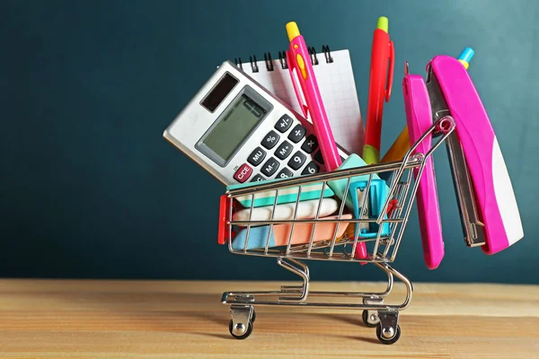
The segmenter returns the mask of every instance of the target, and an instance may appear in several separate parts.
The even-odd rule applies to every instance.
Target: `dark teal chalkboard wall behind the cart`
[[[349,49],[365,116],[381,15],[396,53],[382,152],[405,123],[404,61],[424,74],[431,57],[474,48],[469,72],[525,232],[495,256],[466,248],[442,149],[446,257],[436,270],[425,266],[414,207],[394,266],[412,281],[539,284],[535,0],[0,2],[0,276],[291,279],[272,258],[217,245],[225,188],[163,140],[163,129],[225,59],[286,48],[289,21],[318,51]],[[374,266],[311,268],[314,280],[383,278]]]

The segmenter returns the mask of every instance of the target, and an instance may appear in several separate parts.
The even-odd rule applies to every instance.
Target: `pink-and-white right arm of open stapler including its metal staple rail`
[[[455,131],[446,138],[464,241],[487,254],[524,237],[508,170],[479,94],[456,58],[434,57],[427,65],[432,121],[449,116]]]

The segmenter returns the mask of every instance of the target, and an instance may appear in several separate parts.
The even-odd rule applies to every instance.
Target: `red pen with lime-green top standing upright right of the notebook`
[[[393,86],[395,50],[387,32],[387,18],[378,18],[371,53],[370,79],[368,84],[368,107],[363,160],[367,164],[380,162],[382,114],[384,99],[389,101]],[[388,71],[389,66],[389,71]]]

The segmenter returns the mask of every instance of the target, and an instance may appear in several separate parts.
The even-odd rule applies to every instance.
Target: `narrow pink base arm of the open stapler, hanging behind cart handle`
[[[406,64],[402,79],[402,93],[410,145],[413,145],[432,127],[432,112],[425,81],[418,74],[408,74],[408,64]],[[418,144],[414,153],[428,153],[431,147],[431,137],[430,134],[426,136]],[[418,179],[418,171],[417,168],[414,170],[414,178],[420,181],[416,198],[423,257],[429,269],[436,269],[444,258],[445,250],[432,156],[425,161],[420,179]]]

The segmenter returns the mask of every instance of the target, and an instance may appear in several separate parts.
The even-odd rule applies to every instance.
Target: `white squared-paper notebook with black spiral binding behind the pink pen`
[[[349,50],[331,51],[324,45],[321,53],[316,53],[312,47],[309,53],[335,141],[349,153],[361,155],[365,129]],[[264,53],[263,60],[249,57],[249,62],[243,63],[241,58],[234,58],[234,61],[256,82],[298,113],[303,113],[296,99],[285,51],[279,51],[277,58]]]

